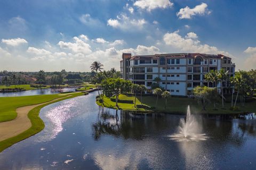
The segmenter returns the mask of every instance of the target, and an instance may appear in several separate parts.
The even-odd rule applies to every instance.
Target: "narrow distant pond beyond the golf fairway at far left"
[[[75,91],[74,88],[62,88],[63,92]],[[15,97],[15,96],[35,96],[35,95],[52,95],[58,94],[59,92],[49,89],[35,89],[35,90],[26,90],[18,92],[0,92],[0,97]]]

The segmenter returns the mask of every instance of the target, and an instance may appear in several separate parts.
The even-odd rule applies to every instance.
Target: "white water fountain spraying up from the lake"
[[[200,125],[196,120],[194,115],[191,115],[190,107],[188,105],[187,108],[187,116],[186,121],[184,118],[180,120],[180,125],[178,127],[178,133],[174,133],[169,137],[172,140],[177,141],[198,141],[198,140],[206,140],[206,134],[200,133]]]

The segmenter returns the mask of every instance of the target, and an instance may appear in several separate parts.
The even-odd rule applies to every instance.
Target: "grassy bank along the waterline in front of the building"
[[[120,95],[119,99],[122,100],[133,100],[134,97]],[[156,97],[155,96],[142,96],[142,101],[144,105],[149,107],[155,107]],[[109,107],[117,109],[116,103],[111,101],[110,98],[105,97],[103,104],[97,101],[99,106]],[[140,105],[140,97],[137,97],[137,105]],[[199,114],[239,114],[239,113],[251,113],[256,112],[256,100],[251,101],[250,103],[246,103],[244,107],[237,103],[239,107],[239,111],[230,111],[230,103],[225,103],[224,109],[222,109],[222,104],[217,104],[217,111],[214,110],[213,104],[209,104],[206,106],[206,111],[202,111],[202,105],[198,104],[197,100],[192,98],[178,98],[171,97],[167,99],[166,109],[164,109],[165,100],[163,98],[158,99],[158,104],[155,109],[143,109],[143,108],[135,108],[134,104],[126,104],[126,103],[118,103],[119,109],[129,110],[129,111],[154,111],[154,112],[162,112],[162,113],[173,113],[173,114],[186,114],[187,106],[190,105],[191,112],[199,113]]]

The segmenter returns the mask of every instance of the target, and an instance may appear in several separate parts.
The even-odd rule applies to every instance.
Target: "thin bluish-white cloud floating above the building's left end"
[[[122,30],[138,30],[142,29],[146,23],[145,19],[131,19],[129,16],[121,14],[116,19],[109,19],[107,25]]]

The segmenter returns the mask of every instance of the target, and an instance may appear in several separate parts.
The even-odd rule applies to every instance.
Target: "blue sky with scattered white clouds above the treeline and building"
[[[122,53],[223,54],[256,69],[256,1],[1,0],[0,71],[119,70]]]

